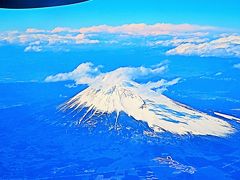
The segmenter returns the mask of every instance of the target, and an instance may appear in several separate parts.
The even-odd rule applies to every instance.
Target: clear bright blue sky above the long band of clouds
[[[0,30],[157,22],[239,29],[239,9],[238,0],[90,0],[82,4],[45,9],[1,9]]]

